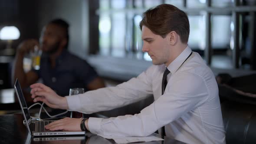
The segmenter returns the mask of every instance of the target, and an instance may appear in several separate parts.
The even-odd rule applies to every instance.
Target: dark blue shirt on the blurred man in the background
[[[52,68],[49,56],[43,53],[40,69],[33,70],[58,95],[69,95],[69,88],[85,88],[98,77],[95,70],[85,60],[63,49],[56,59],[56,67]]]

